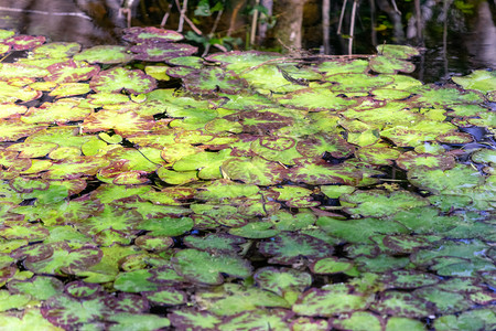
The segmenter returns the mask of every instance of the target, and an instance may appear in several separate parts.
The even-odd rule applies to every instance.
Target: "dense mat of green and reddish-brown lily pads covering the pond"
[[[0,325],[496,328],[494,72],[181,39],[0,30]]]

